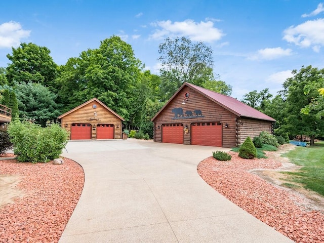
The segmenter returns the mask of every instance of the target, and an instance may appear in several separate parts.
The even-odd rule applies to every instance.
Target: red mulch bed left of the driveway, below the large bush
[[[75,161],[63,165],[0,160],[0,174],[22,175],[24,191],[14,204],[0,207],[0,242],[58,242],[84,186]]]

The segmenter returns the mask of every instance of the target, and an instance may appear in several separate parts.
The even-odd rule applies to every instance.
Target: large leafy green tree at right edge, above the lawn
[[[324,133],[324,120],[318,115],[318,109],[309,109],[318,98],[318,89],[324,86],[324,69],[307,66],[293,70],[293,77],[284,83],[284,95],[287,102],[287,125],[290,135],[310,136],[310,145],[314,145],[316,136]],[[303,109],[304,108],[304,109]],[[306,112],[307,111],[307,112]]]

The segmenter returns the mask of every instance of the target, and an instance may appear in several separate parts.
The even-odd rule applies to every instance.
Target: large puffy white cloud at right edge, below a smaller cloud
[[[320,46],[324,46],[324,19],[309,20],[296,27],[291,26],[284,30],[284,34],[283,39],[287,42],[319,51]]]

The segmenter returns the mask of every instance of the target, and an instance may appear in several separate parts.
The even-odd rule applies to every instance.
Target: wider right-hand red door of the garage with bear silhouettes
[[[205,146],[222,146],[222,124],[193,123],[191,124],[191,144]]]

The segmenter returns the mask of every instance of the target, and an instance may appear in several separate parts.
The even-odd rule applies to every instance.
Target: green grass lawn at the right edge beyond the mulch
[[[296,147],[282,156],[288,157],[291,163],[303,166],[297,172],[282,172],[291,175],[292,182],[304,188],[316,191],[324,196],[324,142],[315,143],[309,148]]]

